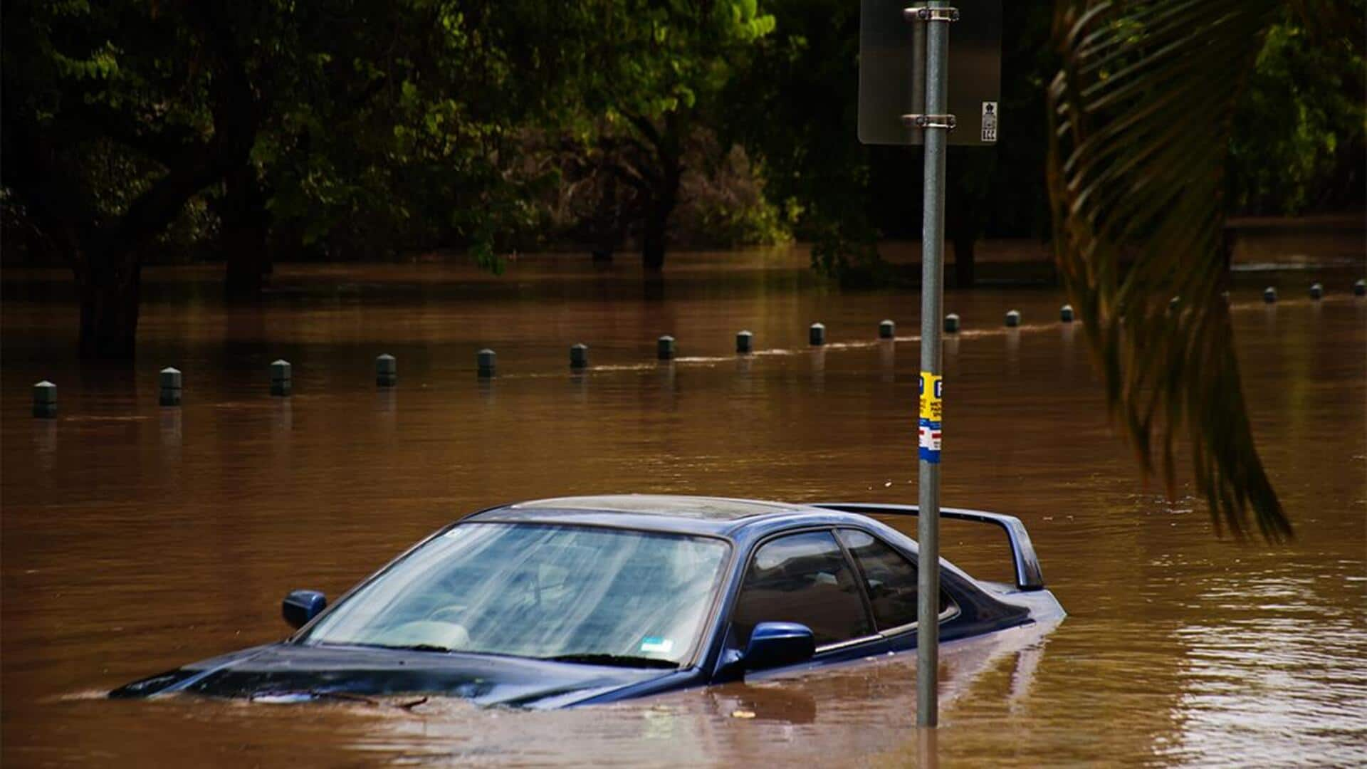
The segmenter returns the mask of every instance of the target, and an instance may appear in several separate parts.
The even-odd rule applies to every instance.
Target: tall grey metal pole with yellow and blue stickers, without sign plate
[[[939,456],[940,456],[940,301],[945,293],[945,145],[949,12],[931,0],[925,29],[925,181],[921,218],[921,397],[919,426],[920,546],[916,612],[916,724],[939,724]]]

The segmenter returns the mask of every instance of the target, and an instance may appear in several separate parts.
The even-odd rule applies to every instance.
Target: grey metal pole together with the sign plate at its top
[[[990,146],[998,138],[1002,5],[965,3],[954,25],[966,56],[949,59],[949,27],[960,11],[945,0],[861,0],[858,138],[925,148],[921,219],[921,564],[939,564],[940,304],[945,261],[946,145]],[[910,29],[908,29],[910,25]],[[950,71],[953,67],[953,73]],[[950,92],[953,86],[953,92]],[[950,134],[951,129],[958,129]],[[950,319],[945,317],[946,330]],[[953,330],[958,317],[953,317]],[[916,722],[938,722],[939,569],[919,569]]]

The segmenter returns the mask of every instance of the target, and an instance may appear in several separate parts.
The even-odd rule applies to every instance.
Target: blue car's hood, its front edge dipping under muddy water
[[[677,676],[677,670],[610,668],[487,654],[278,643],[205,660],[134,681],[112,698],[200,694],[294,702],[355,695],[429,694],[478,705],[559,707],[608,691]]]

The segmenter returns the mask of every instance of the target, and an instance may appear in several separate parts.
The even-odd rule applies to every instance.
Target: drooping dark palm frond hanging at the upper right
[[[1055,257],[1111,415],[1169,494],[1185,431],[1217,532],[1243,536],[1252,512],[1267,540],[1292,528],[1240,386],[1223,166],[1234,101],[1278,7],[1061,0],[1062,68],[1048,92]]]

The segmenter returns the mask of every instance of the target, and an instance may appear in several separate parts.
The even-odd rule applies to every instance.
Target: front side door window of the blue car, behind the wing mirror
[[[872,627],[849,561],[828,531],[760,546],[737,597],[731,621],[744,646],[759,623],[801,623],[817,646],[869,635]]]

